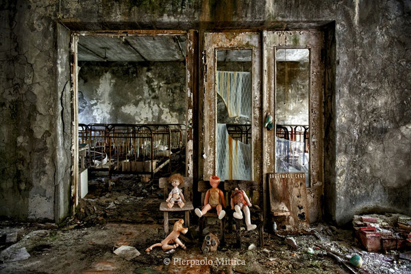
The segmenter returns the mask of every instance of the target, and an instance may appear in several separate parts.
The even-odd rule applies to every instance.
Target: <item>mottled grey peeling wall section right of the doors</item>
[[[411,1],[339,8],[336,221],[411,214]]]

